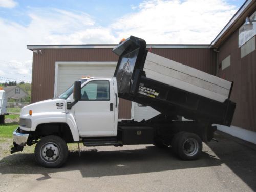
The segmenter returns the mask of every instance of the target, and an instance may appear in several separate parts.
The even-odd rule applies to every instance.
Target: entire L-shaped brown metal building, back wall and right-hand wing
[[[256,52],[255,34],[240,45],[239,35],[243,33],[245,18],[253,17],[256,2],[246,1],[230,22],[210,45],[148,45],[153,53],[194,67],[229,81],[234,81],[231,100],[237,103],[232,127],[220,127],[222,131],[247,139],[245,135],[256,138]],[[256,25],[256,22],[255,24]],[[256,31],[256,26],[253,30]],[[143,38],[143,37],[142,37]],[[146,40],[146,39],[145,39]],[[73,66],[85,63],[95,64],[100,69],[103,63],[112,67],[118,57],[112,52],[115,45],[28,45],[33,51],[31,102],[50,99],[57,94],[57,71],[65,63]],[[72,69],[71,65],[71,69]],[[88,75],[88,74],[84,74]],[[89,74],[90,75],[90,74]],[[70,82],[72,83],[72,82]],[[131,119],[131,102],[120,101],[119,118]],[[130,111],[130,112],[129,112]],[[243,129],[241,129],[243,128]],[[236,130],[238,129],[238,130]],[[241,130],[240,130],[241,129]],[[234,134],[241,132],[242,134]],[[246,130],[253,131],[246,132]],[[241,136],[242,135],[242,136]]]

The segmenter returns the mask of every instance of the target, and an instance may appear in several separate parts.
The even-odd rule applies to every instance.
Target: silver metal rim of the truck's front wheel
[[[45,162],[54,163],[60,156],[59,146],[55,143],[46,143],[41,147],[40,155]]]

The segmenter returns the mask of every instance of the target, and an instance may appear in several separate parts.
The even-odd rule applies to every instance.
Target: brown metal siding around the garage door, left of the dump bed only
[[[33,54],[31,102],[50,99],[54,95],[56,61],[117,61],[112,49],[44,49]]]

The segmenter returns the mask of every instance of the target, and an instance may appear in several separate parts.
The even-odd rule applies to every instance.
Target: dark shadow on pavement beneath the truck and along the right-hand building
[[[50,173],[79,170],[82,177],[99,178],[103,176],[118,176],[161,172],[166,170],[223,166],[226,164],[234,174],[239,176],[252,190],[256,190],[256,147],[240,139],[217,132],[219,143],[210,142],[212,151],[205,151],[197,161],[182,161],[170,149],[160,150],[154,146],[133,150],[122,150],[118,147],[113,151],[87,150],[70,152],[67,163],[58,169],[39,167],[34,160],[34,154],[17,153],[4,157],[0,161],[1,174],[42,174],[37,180],[46,180]],[[208,147],[206,147],[208,148]],[[221,169],[218,169],[221,170]]]

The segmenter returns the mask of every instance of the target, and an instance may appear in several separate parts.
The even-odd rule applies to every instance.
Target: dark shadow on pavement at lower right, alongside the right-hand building
[[[256,145],[221,131],[215,133],[215,138],[219,142],[209,142],[208,147],[252,191],[256,191]]]

